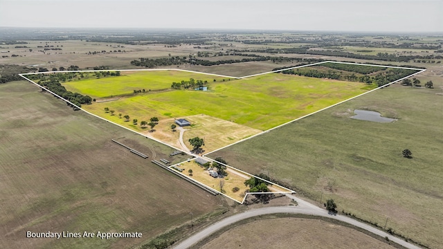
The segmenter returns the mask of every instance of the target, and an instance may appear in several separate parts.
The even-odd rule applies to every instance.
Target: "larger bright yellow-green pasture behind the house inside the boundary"
[[[118,118],[118,113],[138,121],[206,114],[263,131],[367,91],[363,83],[278,73],[212,82],[209,87],[210,91],[165,91],[83,108],[138,131],[141,127]],[[105,107],[116,116],[105,113]]]

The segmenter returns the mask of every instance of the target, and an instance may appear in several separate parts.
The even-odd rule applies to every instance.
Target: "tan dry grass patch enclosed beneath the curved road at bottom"
[[[209,248],[379,248],[392,249],[388,243],[363,232],[327,221],[302,218],[275,218],[252,221],[230,228],[201,246]]]

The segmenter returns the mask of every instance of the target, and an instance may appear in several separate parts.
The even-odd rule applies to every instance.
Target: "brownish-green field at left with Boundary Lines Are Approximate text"
[[[29,82],[0,84],[0,105],[0,248],[131,248],[187,223],[190,212],[225,210],[219,197],[150,163],[179,163],[168,146],[73,111]],[[123,230],[143,237],[26,239],[26,231]]]

